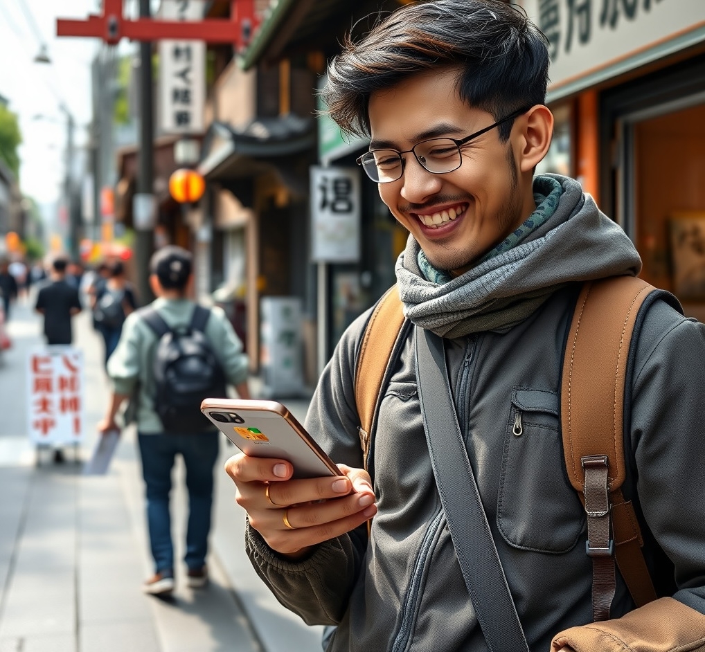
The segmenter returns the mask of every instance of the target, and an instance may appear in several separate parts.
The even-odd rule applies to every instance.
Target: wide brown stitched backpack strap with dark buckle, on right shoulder
[[[570,483],[587,512],[594,620],[609,617],[615,558],[637,606],[656,599],[634,508],[620,490],[626,476],[627,359],[639,307],[654,289],[632,276],[585,283],[563,359],[563,453]]]

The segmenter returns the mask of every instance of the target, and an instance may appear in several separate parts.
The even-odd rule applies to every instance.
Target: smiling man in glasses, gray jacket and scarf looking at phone
[[[306,622],[336,625],[329,651],[705,649],[705,518],[694,499],[705,328],[665,293],[644,304],[632,339],[624,449],[646,564],[666,570],[655,582],[666,602],[635,608],[617,573],[609,619],[592,625],[595,551],[560,433],[563,351],[583,283],[635,276],[641,262],[577,181],[534,177],[553,130],[547,72],[544,35],[498,0],[409,4],[329,66],[331,116],[370,137],[358,163],[410,233],[396,266],[410,326],[367,460],[355,368],[371,312],[336,347],[306,421],[341,475],[292,479],[287,460],[245,455],[227,465],[253,565]],[[439,347],[436,370],[424,341]],[[442,473],[429,421],[460,435]],[[436,477],[450,479],[450,495]],[[473,483],[498,564],[485,548],[458,548],[482,529],[469,512],[451,536],[448,508]],[[505,583],[508,601],[469,593],[468,576]],[[516,646],[493,638],[503,629],[518,630]]]

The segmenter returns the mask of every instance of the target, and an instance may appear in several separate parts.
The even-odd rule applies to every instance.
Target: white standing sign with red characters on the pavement
[[[36,444],[83,439],[83,354],[68,346],[37,347],[27,357],[27,429]]]

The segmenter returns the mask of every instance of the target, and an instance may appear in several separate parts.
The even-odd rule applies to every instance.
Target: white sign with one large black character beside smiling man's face
[[[360,171],[311,168],[312,259],[319,263],[360,259]]]

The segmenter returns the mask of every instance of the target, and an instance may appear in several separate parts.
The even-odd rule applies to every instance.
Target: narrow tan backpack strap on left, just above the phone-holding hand
[[[379,391],[403,323],[403,304],[397,286],[393,285],[372,311],[355,364],[355,403],[360,417],[360,444],[365,469]]]

